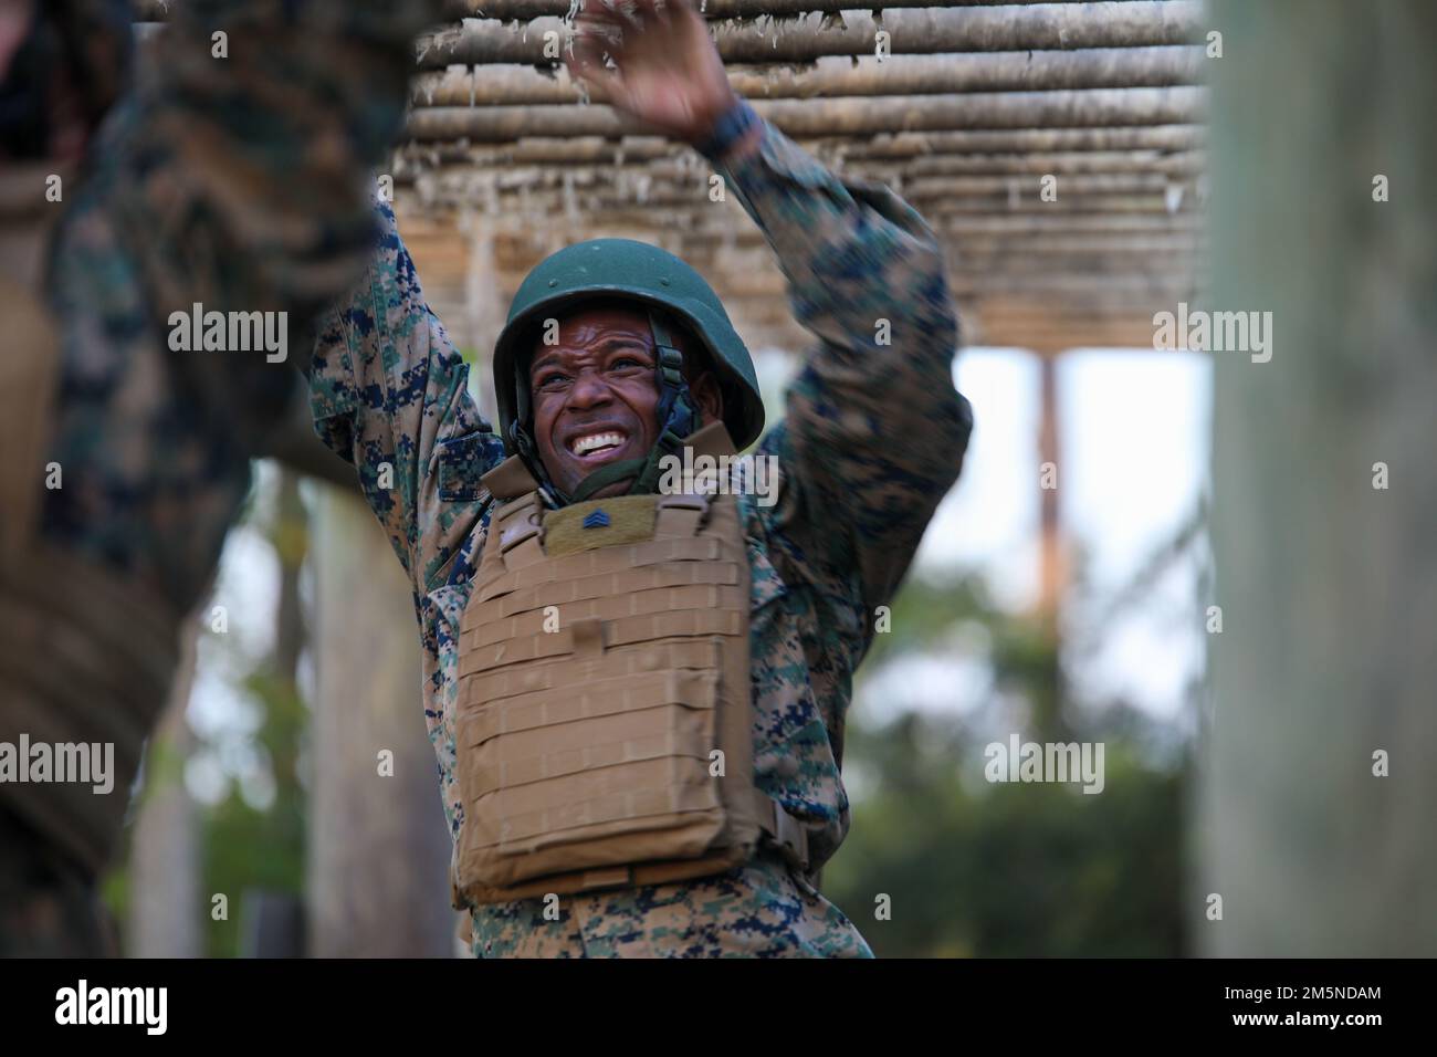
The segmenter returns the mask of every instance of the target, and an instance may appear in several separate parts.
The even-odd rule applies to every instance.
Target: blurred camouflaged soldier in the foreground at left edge
[[[435,7],[187,0],[131,89],[124,1],[0,0],[0,955],[111,952],[178,624],[371,252]]]

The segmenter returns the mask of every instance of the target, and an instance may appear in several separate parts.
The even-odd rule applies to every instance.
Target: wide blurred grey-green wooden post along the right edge
[[[1211,24],[1211,306],[1270,311],[1273,352],[1213,354],[1198,943],[1431,956],[1437,6],[1226,0]]]

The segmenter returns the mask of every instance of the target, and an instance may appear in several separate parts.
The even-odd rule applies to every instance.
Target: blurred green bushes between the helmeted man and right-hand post
[[[957,628],[986,636],[992,689],[971,712],[862,720],[882,666],[941,651]],[[861,680],[845,771],[862,777],[852,830],[822,877],[825,896],[879,956],[1173,956],[1180,925],[1181,810],[1188,756],[1151,762],[1152,720],[1121,703],[1096,713],[1063,700],[1056,637],[996,610],[973,580],[911,578]],[[1003,713],[997,715],[997,702]],[[983,746],[1101,741],[1105,787],[987,784]],[[877,918],[888,896],[890,918]]]

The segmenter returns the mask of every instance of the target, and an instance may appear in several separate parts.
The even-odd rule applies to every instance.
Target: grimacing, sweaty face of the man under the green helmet
[[[723,417],[723,395],[711,371],[694,368],[693,342],[675,334],[690,393],[704,421]],[[628,302],[585,303],[559,316],[558,341],[535,341],[529,398],[535,444],[545,470],[572,495],[593,470],[641,459],[658,440],[657,354],[648,315]],[[621,495],[619,480],[595,498]]]

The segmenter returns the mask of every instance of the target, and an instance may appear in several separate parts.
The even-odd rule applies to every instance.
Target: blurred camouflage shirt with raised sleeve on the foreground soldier
[[[65,488],[45,493],[50,542],[180,611],[205,590],[249,460],[303,387],[267,355],[181,349],[168,321],[195,303],[283,312],[297,358],[369,257],[371,173],[437,7],[185,0],[145,42],[52,240]]]

